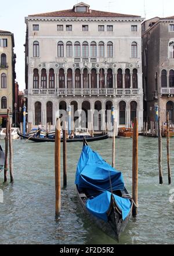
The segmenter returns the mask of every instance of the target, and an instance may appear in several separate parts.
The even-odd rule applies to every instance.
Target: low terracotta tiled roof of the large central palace
[[[73,9],[58,10],[56,12],[39,13],[35,15],[28,15],[28,17],[141,17],[137,15],[126,15],[114,12],[103,12],[101,10],[89,10],[89,12],[74,12]]]

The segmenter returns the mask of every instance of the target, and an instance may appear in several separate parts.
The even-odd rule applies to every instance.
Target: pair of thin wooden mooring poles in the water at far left
[[[5,135],[5,162],[4,162],[4,182],[7,182],[8,170],[10,171],[10,182],[13,182],[13,149],[12,149],[12,126],[10,123],[9,109],[6,117],[6,135]],[[9,147],[9,169],[8,169],[8,147]]]

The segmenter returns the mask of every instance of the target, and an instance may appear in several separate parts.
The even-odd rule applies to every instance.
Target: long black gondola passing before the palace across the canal
[[[28,139],[31,140],[33,142],[55,142],[55,138],[54,139],[49,139],[49,138],[38,138],[38,137],[34,137],[34,136],[28,136],[28,135],[23,135],[20,132],[18,132],[18,135],[23,138],[23,139]],[[104,134],[104,135],[100,135],[100,136],[93,136],[90,138],[86,138],[86,140],[88,142],[92,142],[95,140],[103,140],[103,139],[108,139],[108,135]],[[67,142],[83,142],[84,138],[68,138]],[[61,142],[63,142],[63,139],[61,138]]]

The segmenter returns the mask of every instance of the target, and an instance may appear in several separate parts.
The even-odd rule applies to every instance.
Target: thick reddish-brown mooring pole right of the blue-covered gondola
[[[138,124],[137,118],[134,119],[133,125],[133,149],[132,149],[132,199],[135,202],[132,207],[132,215],[137,215],[137,207],[138,204]]]

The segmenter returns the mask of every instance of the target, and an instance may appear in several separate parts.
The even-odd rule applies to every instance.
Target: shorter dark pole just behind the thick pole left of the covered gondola
[[[67,134],[66,134],[66,122],[63,125],[63,186],[67,186]]]

